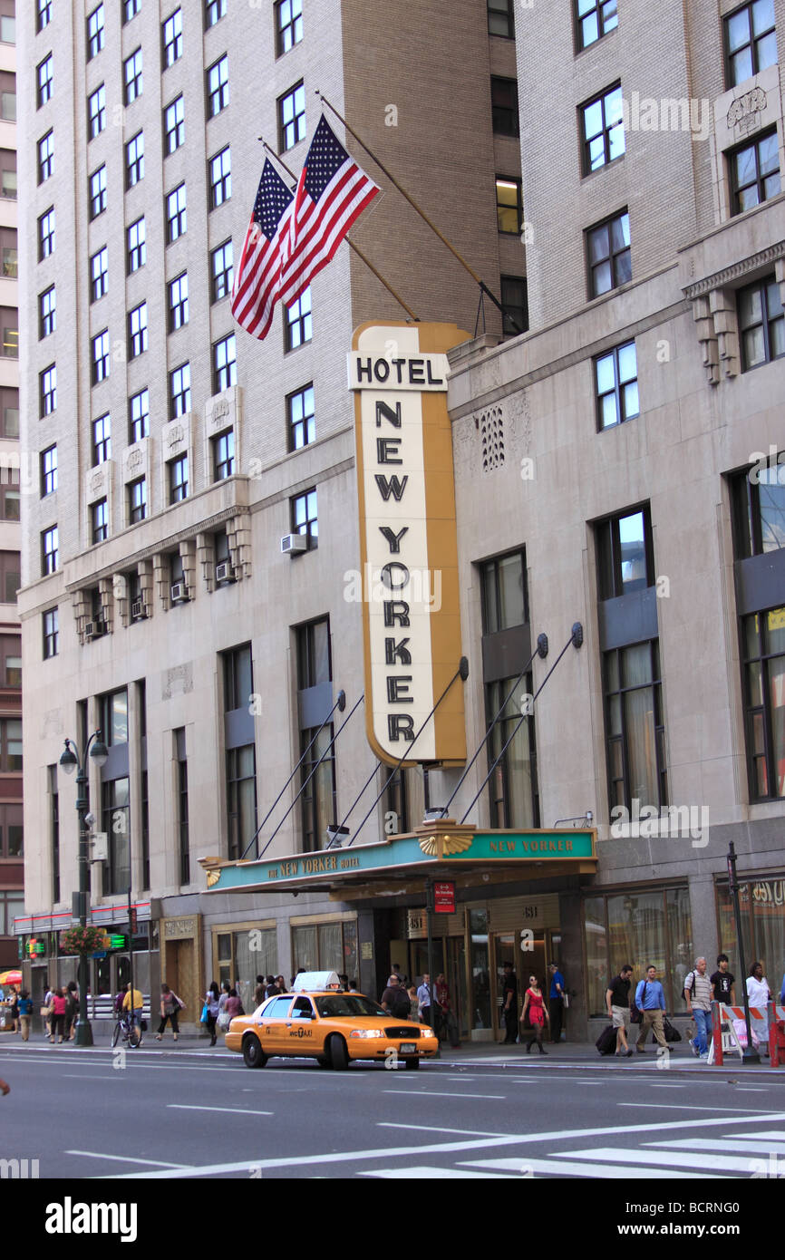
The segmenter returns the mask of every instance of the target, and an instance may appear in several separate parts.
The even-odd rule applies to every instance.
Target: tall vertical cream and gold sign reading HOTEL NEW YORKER
[[[461,656],[446,352],[465,340],[454,324],[363,324],[352,339],[365,723],[387,765],[466,760],[460,682],[427,721]]]

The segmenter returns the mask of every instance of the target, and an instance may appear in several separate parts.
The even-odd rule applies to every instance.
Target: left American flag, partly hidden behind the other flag
[[[232,314],[252,336],[267,336],[280,297],[294,195],[265,159],[243,252],[232,286]]]

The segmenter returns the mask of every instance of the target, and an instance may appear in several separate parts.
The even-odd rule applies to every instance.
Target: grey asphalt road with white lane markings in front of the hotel
[[[251,1071],[227,1051],[32,1045],[0,1051],[0,1076],[5,1177],[607,1178],[627,1200],[689,1179],[707,1184],[684,1193],[716,1200],[733,1187],[712,1182],[785,1174],[785,1089],[770,1076],[537,1060]]]

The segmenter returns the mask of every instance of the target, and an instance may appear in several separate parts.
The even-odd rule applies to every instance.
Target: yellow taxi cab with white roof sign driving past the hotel
[[[316,1058],[338,1071],[355,1058],[416,1068],[438,1050],[431,1028],[397,1019],[362,993],[347,993],[335,971],[302,971],[291,993],[267,998],[252,1016],[234,1016],[226,1045],[242,1053],[246,1067],[281,1056]]]

